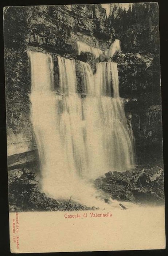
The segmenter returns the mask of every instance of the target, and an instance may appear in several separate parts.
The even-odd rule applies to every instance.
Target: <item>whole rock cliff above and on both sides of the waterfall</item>
[[[4,34],[8,146],[11,148],[8,155],[13,155],[22,153],[24,148],[25,151],[35,149],[29,118],[31,78],[27,50],[52,54],[55,84],[59,80],[56,54],[76,59],[77,80],[81,83],[79,60],[89,62],[93,72],[97,60],[91,53],[78,56],[77,41],[105,50],[113,42],[115,30],[112,23],[109,26],[106,11],[100,4],[28,6],[5,10]],[[120,97],[126,99],[126,116],[136,139],[138,162],[146,157],[144,145],[148,151],[149,147],[159,145],[158,154],[162,154],[159,56],[119,52],[113,61],[118,63]],[[82,88],[78,89],[83,93]]]

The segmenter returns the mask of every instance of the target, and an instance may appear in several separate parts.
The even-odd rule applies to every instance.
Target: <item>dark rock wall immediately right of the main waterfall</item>
[[[137,162],[159,161],[162,152],[159,56],[116,53],[120,97],[136,139]]]

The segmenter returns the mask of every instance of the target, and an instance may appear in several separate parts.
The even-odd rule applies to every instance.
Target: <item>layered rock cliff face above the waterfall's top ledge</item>
[[[111,42],[106,11],[99,4],[29,7],[27,12],[30,45],[76,53],[77,41],[104,49]]]

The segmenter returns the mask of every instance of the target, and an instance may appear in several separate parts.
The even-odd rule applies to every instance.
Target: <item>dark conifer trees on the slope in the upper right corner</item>
[[[159,54],[157,3],[133,3],[127,11],[116,5],[108,22],[120,38],[124,52]]]

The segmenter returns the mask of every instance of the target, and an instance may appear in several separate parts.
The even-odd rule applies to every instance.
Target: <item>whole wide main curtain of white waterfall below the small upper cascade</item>
[[[86,193],[87,180],[130,168],[133,134],[119,97],[117,64],[98,63],[93,75],[90,65],[81,61],[86,92],[86,98],[82,98],[77,93],[74,60],[58,56],[58,94],[51,55],[28,54],[31,122],[43,191],[52,197],[77,196]]]

